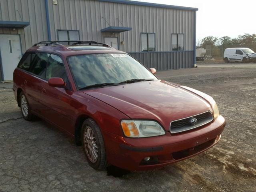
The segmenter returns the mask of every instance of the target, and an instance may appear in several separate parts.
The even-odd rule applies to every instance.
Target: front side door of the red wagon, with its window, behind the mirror
[[[56,88],[48,85],[48,79],[59,77],[66,82],[66,88]],[[69,88],[69,81],[60,56],[51,54],[46,68],[46,81],[42,83],[40,103],[44,106],[42,115],[60,128],[74,134],[72,129],[72,115],[74,108],[71,106],[72,91]]]

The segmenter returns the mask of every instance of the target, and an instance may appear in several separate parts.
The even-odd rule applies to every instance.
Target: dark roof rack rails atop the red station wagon
[[[61,42],[68,42],[68,43],[71,43],[71,44],[63,45],[63,44],[61,44]],[[34,44],[33,47],[38,46],[39,44],[45,44],[45,46],[55,45],[55,46],[58,46],[58,47],[65,47],[65,46],[70,46],[70,45],[80,45],[80,44],[88,44],[88,45],[100,44],[102,46],[112,48],[108,44],[99,43],[99,42],[96,42],[96,41],[41,41],[39,43]]]

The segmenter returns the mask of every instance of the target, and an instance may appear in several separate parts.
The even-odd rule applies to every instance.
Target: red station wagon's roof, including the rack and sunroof
[[[65,44],[63,44],[63,42]],[[69,43],[69,44],[67,44]],[[34,44],[27,52],[49,52],[63,56],[99,53],[125,53],[95,41],[47,41]]]

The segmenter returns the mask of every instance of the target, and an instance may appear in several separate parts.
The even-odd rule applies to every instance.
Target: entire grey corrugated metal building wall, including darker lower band
[[[57,30],[79,30],[80,40],[98,42],[104,42],[106,36],[115,36],[119,42],[124,42],[120,50],[130,52],[146,66],[157,70],[192,67],[194,11],[100,0],[58,0],[58,5],[48,0],[48,8],[52,40],[57,40]],[[36,42],[48,40],[44,0],[0,0],[0,20],[30,22],[24,29],[0,28],[0,33],[20,34],[22,52]],[[109,26],[105,20],[110,26],[131,27],[132,30],[120,34],[101,33],[102,28]],[[141,32],[155,33],[156,52],[140,52]],[[185,52],[172,52],[172,33],[184,34]]]

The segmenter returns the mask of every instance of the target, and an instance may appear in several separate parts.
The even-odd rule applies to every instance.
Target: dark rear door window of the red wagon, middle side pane
[[[36,53],[30,72],[32,72],[37,76],[45,78],[46,66],[47,66],[49,56],[50,54],[48,53],[39,53],[39,52]]]

